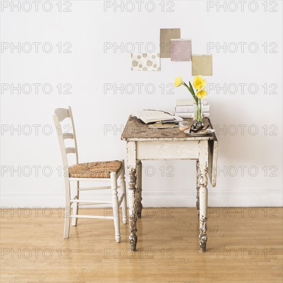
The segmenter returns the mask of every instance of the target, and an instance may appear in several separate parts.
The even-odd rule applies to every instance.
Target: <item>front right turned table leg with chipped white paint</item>
[[[199,142],[199,183],[200,183],[200,252],[204,253],[207,242],[207,170],[208,170],[208,143],[207,140]]]

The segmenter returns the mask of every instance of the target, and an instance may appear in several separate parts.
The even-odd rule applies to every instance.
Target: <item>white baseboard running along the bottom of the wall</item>
[[[85,197],[97,200],[109,199],[111,194],[86,192]],[[210,207],[269,207],[282,206],[282,190],[209,191]],[[144,207],[195,207],[196,193],[192,191],[143,192]],[[1,207],[64,207],[63,192],[2,193]],[[90,206],[87,206],[90,207]],[[103,206],[102,206],[103,207]]]

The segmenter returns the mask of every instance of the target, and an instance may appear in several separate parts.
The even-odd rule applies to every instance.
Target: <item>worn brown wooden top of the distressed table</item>
[[[189,127],[193,124],[192,118],[186,118],[184,121],[188,121]],[[210,129],[213,129],[209,118],[203,119],[204,127],[210,125]],[[145,124],[140,119],[130,116],[125,129],[121,135],[121,140],[128,141],[150,141],[150,140],[211,140],[216,139],[215,133],[211,133],[205,136],[192,136],[181,132],[179,128],[169,129],[150,129],[149,124]]]

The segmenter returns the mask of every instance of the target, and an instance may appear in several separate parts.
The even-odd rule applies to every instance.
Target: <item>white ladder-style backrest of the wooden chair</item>
[[[67,109],[65,108],[57,108],[54,111],[53,119],[59,139],[59,145],[62,155],[62,161],[63,161],[63,167],[64,167],[64,173],[68,172],[68,160],[67,160],[67,154],[68,153],[75,153],[76,154],[76,161],[78,163],[78,149],[77,149],[77,139],[76,139],[76,132],[75,132],[75,126],[74,126],[74,119],[72,114],[72,109],[70,106],[68,106]],[[62,132],[64,127],[61,126],[61,122],[65,119],[69,119],[70,124],[69,126],[72,126],[73,133],[70,133],[69,131]],[[70,128],[70,127],[68,127]],[[69,129],[68,129],[69,130]],[[66,147],[65,146],[65,139],[74,139],[74,147]]]

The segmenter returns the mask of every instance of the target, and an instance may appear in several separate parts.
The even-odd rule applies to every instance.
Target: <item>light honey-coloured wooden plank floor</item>
[[[282,212],[209,208],[207,252],[199,253],[196,208],[144,208],[132,253],[128,224],[120,243],[112,220],[78,219],[63,239],[63,210],[2,209],[1,282],[281,283]]]

